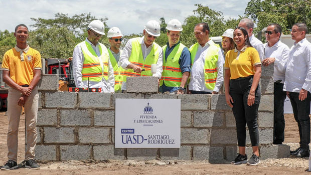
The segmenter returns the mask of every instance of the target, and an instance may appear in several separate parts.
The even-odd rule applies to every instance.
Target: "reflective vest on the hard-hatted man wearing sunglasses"
[[[109,52],[109,59],[110,63],[113,67],[113,75],[114,75],[114,91],[119,92],[121,90],[121,85],[123,82],[124,76],[124,69],[118,65],[118,62],[115,60],[114,56],[112,55],[111,51],[107,49]],[[120,50],[120,55],[122,51]]]

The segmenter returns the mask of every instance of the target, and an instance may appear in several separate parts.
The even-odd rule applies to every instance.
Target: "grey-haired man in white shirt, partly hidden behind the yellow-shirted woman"
[[[238,27],[242,27],[246,29],[248,33],[248,38],[250,41],[250,44],[255,48],[259,54],[260,61],[263,61],[264,57],[264,50],[263,50],[263,44],[260,40],[258,40],[254,35],[253,35],[253,29],[254,29],[254,23],[252,20],[248,18],[244,18],[240,21]]]

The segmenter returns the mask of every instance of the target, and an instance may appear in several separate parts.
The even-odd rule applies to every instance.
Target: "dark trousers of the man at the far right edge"
[[[298,99],[299,93],[289,92],[289,99],[294,113],[294,118],[298,124],[300,147],[309,148],[310,143],[310,100],[311,95],[308,92],[306,99]]]

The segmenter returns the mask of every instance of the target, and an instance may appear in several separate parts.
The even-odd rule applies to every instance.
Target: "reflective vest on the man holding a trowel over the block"
[[[147,55],[145,60],[143,60],[140,40],[141,38],[134,38],[132,40],[132,50],[128,61],[136,66],[141,67],[141,69],[151,68],[151,64],[157,64],[159,59],[159,52],[162,48],[157,43],[153,42],[150,53]],[[152,76],[152,73],[151,70],[136,73],[133,69],[127,69],[124,71],[124,75],[125,76],[123,81],[126,82],[126,77]]]

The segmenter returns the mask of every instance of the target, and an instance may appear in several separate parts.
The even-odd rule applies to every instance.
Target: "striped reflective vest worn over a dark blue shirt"
[[[186,47],[179,43],[165,60],[165,52],[168,45],[162,47],[163,49],[163,72],[160,80],[160,86],[163,83],[168,87],[180,87],[183,73],[180,69],[179,59],[182,55],[183,49]]]

